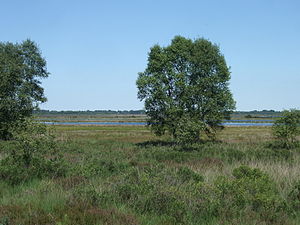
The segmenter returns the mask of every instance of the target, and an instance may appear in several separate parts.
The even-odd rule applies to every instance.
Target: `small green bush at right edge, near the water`
[[[274,147],[293,148],[299,145],[296,138],[300,135],[300,111],[284,111],[282,117],[275,121],[272,128],[276,138]]]

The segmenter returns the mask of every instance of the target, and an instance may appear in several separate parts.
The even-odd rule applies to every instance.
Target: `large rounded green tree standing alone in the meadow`
[[[148,125],[183,142],[214,138],[235,109],[228,87],[230,71],[217,45],[176,36],[167,47],[150,49],[148,65],[137,79]]]

